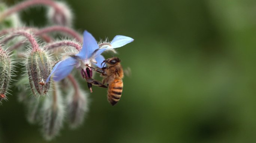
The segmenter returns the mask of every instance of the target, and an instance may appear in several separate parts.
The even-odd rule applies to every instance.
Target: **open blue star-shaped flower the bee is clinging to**
[[[74,67],[81,67],[83,70],[85,70],[86,65],[89,65],[91,61],[96,66],[102,68],[101,62],[104,61],[105,58],[100,55],[101,53],[103,53],[107,49],[122,47],[132,42],[133,40],[134,39],[127,36],[117,35],[114,37],[112,42],[102,43],[99,46],[95,38],[88,31],[85,31],[83,32],[82,50],[78,54],[72,57],[68,57],[67,59],[55,64],[51,74],[46,80],[46,83],[49,82],[53,74],[54,76],[52,79],[55,81],[60,81],[68,76],[68,74],[70,74]]]

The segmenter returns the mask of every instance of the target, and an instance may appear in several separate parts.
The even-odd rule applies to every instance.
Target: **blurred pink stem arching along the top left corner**
[[[52,0],[27,0],[24,2],[21,2],[19,4],[17,4],[16,6],[6,10],[2,15],[0,15],[0,20],[2,18],[5,18],[6,16],[11,15],[12,13],[15,12],[19,12],[23,9],[28,8],[29,6],[34,6],[34,5],[38,5],[38,4],[43,4],[43,5],[47,5],[47,6],[51,6],[53,7],[56,11],[58,12],[62,12],[61,8],[58,6],[58,4],[56,4],[54,1]],[[64,14],[63,14],[64,15]]]

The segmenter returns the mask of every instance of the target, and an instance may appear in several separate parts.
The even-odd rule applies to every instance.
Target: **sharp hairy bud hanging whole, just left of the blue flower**
[[[32,50],[27,58],[27,71],[30,87],[34,95],[45,95],[50,83],[45,83],[51,71],[50,57],[44,50]]]

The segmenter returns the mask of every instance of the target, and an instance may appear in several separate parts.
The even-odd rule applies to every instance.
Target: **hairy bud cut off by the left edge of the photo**
[[[11,59],[8,53],[0,45],[0,102],[6,98],[9,82],[12,74]]]

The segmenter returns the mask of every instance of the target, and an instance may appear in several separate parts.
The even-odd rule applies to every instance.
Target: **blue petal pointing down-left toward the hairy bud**
[[[54,74],[53,80],[55,81],[64,79],[73,70],[76,63],[77,60],[73,57],[69,57],[63,61],[58,62],[52,69],[52,72],[47,78],[46,83],[49,82],[52,74]]]

